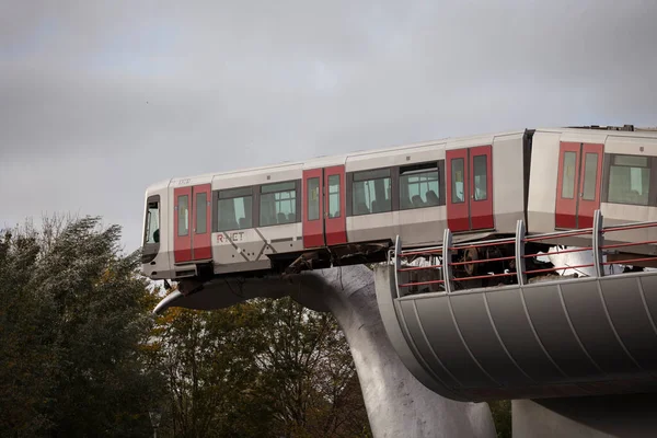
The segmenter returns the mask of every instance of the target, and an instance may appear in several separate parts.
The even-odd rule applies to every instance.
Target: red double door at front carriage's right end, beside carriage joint
[[[447,226],[453,232],[494,228],[493,148],[446,151]]]

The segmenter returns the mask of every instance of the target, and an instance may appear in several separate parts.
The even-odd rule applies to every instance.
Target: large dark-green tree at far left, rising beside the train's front
[[[119,227],[101,229],[99,218],[2,233],[3,430],[150,431],[148,406],[161,387],[143,362],[152,303],[139,254],[122,254],[119,238]]]

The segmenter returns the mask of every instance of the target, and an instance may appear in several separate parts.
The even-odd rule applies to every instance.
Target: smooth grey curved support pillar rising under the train
[[[377,307],[372,272],[326,269],[321,299],[343,328],[358,371],[374,437],[495,437],[486,403],[445,399],[417,381],[388,339]],[[308,299],[308,297],[306,297]]]

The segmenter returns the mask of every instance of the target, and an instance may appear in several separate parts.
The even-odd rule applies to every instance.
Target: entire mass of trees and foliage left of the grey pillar
[[[0,436],[369,437],[336,321],[289,298],[153,318],[99,218],[0,232]]]

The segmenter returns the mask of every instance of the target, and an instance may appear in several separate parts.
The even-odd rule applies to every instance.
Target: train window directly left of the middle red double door
[[[261,187],[261,227],[297,221],[297,184],[275,183]]]

